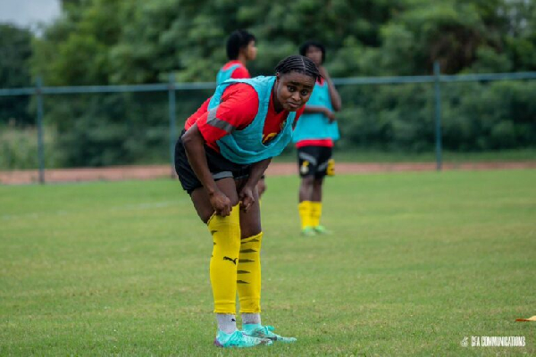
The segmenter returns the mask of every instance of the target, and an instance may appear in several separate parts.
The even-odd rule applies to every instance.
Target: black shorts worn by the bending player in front
[[[203,187],[203,185],[201,184],[201,181],[197,179],[196,173],[189,165],[186,150],[184,149],[181,140],[184,132],[185,131],[182,131],[179,140],[177,140],[177,143],[175,144],[175,172],[177,172],[177,176],[179,176],[182,188],[188,192],[188,195],[191,195],[193,190]],[[225,178],[244,179],[249,176],[251,165],[230,162],[221,154],[215,152],[206,145],[205,153],[208,170],[212,172],[215,181]]]

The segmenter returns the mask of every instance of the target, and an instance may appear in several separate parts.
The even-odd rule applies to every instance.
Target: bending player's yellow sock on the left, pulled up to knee
[[[210,282],[214,295],[214,312],[236,313],[237,269],[240,251],[240,210],[237,204],[230,216],[215,215],[208,221],[213,236],[210,259]]]

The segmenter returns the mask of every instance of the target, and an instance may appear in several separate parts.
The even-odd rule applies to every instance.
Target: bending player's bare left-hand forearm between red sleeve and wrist
[[[209,195],[214,194],[218,190],[216,183],[213,179],[212,173],[208,169],[208,163],[206,162],[205,153],[205,139],[197,129],[197,124],[194,124],[184,135],[182,136],[182,144],[186,149],[186,155],[188,162],[194,170],[197,179],[201,181],[203,187]]]

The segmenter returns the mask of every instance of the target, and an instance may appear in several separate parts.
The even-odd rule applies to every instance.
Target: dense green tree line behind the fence
[[[334,78],[536,71],[533,0],[71,0],[36,37],[0,25],[0,87],[214,81],[225,38],[248,29],[258,40],[253,75],[272,74],[306,39],[327,48]],[[422,152],[433,147],[430,85],[340,87],[342,147]],[[178,92],[185,120],[208,92]],[[446,148],[534,146],[536,84],[448,84]],[[137,162],[167,153],[163,94],[46,97],[64,165]],[[31,125],[29,98],[0,98],[0,122]],[[165,157],[165,156],[164,156]]]

